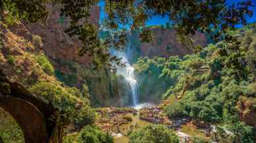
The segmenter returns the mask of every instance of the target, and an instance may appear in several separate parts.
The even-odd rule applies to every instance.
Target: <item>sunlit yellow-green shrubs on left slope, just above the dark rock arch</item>
[[[41,81],[29,89],[35,96],[46,102],[51,102],[59,110],[64,111],[77,123],[85,121],[90,113],[88,99],[75,88],[63,88],[53,83]]]

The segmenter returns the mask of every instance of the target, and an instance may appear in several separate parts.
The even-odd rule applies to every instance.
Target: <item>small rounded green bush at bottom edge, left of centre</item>
[[[113,143],[113,137],[96,126],[84,127],[77,136],[78,143]]]

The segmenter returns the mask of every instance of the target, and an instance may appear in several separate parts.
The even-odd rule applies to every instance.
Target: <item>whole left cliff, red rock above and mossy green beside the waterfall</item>
[[[84,84],[88,85],[92,106],[108,106],[112,99],[115,100],[115,104],[119,104],[119,94],[111,79],[111,73],[106,68],[94,70],[90,56],[77,54],[79,40],[77,37],[69,37],[64,32],[69,25],[69,18],[59,16],[61,6],[47,7],[49,15],[45,22],[22,22],[9,26],[13,37],[20,37],[32,43],[35,45],[35,51],[43,51],[54,66],[55,76],[65,85],[78,88],[82,88]],[[90,22],[99,27],[99,19],[100,7],[93,7]],[[16,39],[13,41],[18,43]],[[11,45],[13,44],[10,42],[7,46]]]

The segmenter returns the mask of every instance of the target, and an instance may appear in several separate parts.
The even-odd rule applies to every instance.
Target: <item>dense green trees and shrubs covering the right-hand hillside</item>
[[[162,80],[169,85],[162,99],[171,101],[165,107],[170,119],[191,117],[221,125],[234,133],[234,142],[253,142],[253,125],[240,119],[241,114],[255,111],[255,31],[255,24],[230,31],[234,36],[243,35],[237,39],[238,47],[221,41],[183,58],[141,58],[135,67],[139,74],[158,75],[152,85]],[[246,101],[247,110],[241,112]]]

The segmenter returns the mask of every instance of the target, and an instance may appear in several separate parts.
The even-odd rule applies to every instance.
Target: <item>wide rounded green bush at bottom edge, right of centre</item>
[[[129,135],[131,143],[178,143],[179,137],[164,125],[148,125]]]

